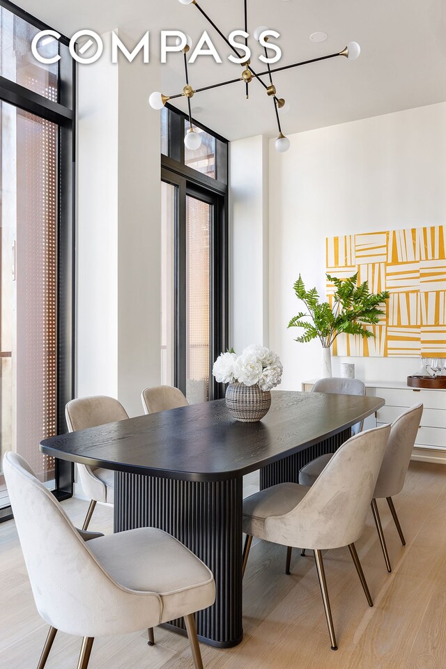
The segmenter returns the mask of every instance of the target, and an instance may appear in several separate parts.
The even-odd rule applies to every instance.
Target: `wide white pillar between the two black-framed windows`
[[[130,415],[160,383],[159,74],[106,52],[78,68],[77,396],[109,394]]]

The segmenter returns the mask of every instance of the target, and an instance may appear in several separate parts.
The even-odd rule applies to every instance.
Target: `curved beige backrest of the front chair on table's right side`
[[[267,519],[267,541],[321,550],[353,544],[364,531],[389,434],[382,425],[348,439],[291,512]]]

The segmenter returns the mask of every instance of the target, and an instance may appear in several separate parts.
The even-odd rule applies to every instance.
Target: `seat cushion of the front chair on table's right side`
[[[280,483],[247,497],[243,500],[243,532],[265,539],[266,518],[287,514],[308,491],[297,483]]]

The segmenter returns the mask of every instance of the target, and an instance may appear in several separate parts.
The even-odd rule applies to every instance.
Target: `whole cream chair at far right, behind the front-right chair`
[[[413,452],[413,445],[417,437],[417,431],[420,427],[421,417],[423,414],[423,405],[416,404],[408,410],[401,413],[401,415],[392,423],[387,449],[385,451],[383,464],[381,466],[378,481],[374,491],[373,499],[371,500],[371,510],[374,515],[376,530],[378,532],[381,548],[385,560],[387,571],[392,571],[390,564],[390,557],[385,544],[385,537],[383,526],[378,511],[376,500],[386,499],[389,505],[392,518],[397,526],[401,544],[406,546],[406,539],[404,539],[403,530],[399,524],[397,511],[394,507],[392,497],[401,492],[406,480],[407,470],[409,468],[410,456]],[[299,483],[304,486],[312,486],[316,481],[318,475],[321,474],[328,461],[332,457],[331,454],[321,455],[313,460],[309,466],[305,466],[300,470]]]

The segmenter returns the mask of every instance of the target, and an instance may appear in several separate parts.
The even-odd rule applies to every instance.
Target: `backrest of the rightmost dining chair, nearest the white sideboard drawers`
[[[392,423],[374,498],[393,497],[403,489],[422,415],[423,405],[416,404]]]

